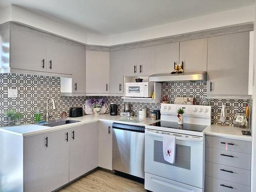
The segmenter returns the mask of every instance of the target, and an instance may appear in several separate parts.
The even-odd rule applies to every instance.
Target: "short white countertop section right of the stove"
[[[207,127],[204,133],[205,135],[252,141],[252,137],[243,135],[242,131],[249,131],[249,130],[236,127],[236,126],[220,126],[218,124],[212,124]]]

